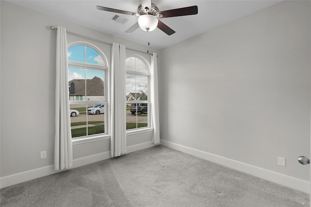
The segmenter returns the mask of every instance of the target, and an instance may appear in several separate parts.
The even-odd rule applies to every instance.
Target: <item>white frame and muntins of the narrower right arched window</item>
[[[147,72],[145,73],[145,72],[141,72],[141,71],[126,69],[126,75],[132,75],[132,76],[135,76],[135,77],[137,77],[137,76],[146,77],[147,78],[147,87],[148,87],[148,91],[147,91],[148,96],[147,96],[147,100],[126,100],[126,105],[132,104],[132,103],[136,103],[136,104],[146,103],[146,104],[148,104],[148,108],[150,109],[151,108],[150,107],[150,91],[151,91],[150,90],[150,76],[151,76],[151,74],[150,74],[150,64],[144,57],[142,57],[140,55],[130,55],[129,57],[126,58],[126,60],[128,58],[131,58],[131,57],[137,58],[140,61],[142,61],[142,63],[146,66]],[[127,94],[126,94],[126,96],[127,96]],[[148,121],[147,127],[137,127],[137,128],[125,129],[127,134],[133,134],[133,133],[136,133],[136,132],[139,132],[139,131],[145,131],[145,130],[148,131],[148,130],[151,129],[151,119],[150,119],[151,111],[149,109],[147,110],[147,121]],[[137,124],[137,122],[136,122],[136,124]]]

